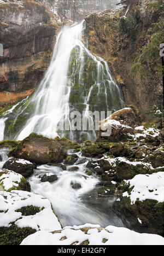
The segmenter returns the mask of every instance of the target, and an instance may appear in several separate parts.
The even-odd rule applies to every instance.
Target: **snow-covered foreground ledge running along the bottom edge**
[[[89,228],[86,228],[89,227]],[[61,232],[52,234],[38,231],[22,241],[21,245],[80,245],[89,241],[89,245],[164,245],[164,238],[159,235],[139,234],[126,228],[107,226],[106,229],[97,225],[65,227]]]

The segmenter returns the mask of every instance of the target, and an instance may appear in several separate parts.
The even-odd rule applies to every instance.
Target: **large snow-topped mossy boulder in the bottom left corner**
[[[20,245],[36,231],[60,229],[48,199],[27,191],[0,191],[0,245]]]

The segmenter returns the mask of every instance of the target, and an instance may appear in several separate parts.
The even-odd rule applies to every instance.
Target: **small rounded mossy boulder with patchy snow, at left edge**
[[[0,170],[0,191],[10,192],[15,189],[30,192],[31,186],[21,174],[7,169]]]

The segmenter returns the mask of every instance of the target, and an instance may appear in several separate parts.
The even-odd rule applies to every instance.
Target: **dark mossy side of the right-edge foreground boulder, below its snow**
[[[147,199],[132,205],[130,198],[121,196],[120,201],[114,202],[113,209],[124,216],[135,231],[164,236],[164,202]]]

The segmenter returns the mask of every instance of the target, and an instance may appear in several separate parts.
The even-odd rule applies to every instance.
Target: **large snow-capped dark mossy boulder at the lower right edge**
[[[124,216],[134,230],[164,236],[163,184],[163,172],[135,176],[125,183],[114,211]]]

